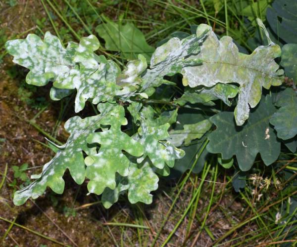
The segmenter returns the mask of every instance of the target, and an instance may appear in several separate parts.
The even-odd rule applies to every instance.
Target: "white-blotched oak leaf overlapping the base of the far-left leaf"
[[[94,35],[82,38],[73,56],[73,61],[80,66],[56,67],[57,77],[53,85],[57,88],[77,89],[75,112],[81,111],[88,99],[93,99],[93,104],[112,101],[119,90],[115,82],[120,69],[113,61],[96,55],[94,51],[98,48],[99,41]]]

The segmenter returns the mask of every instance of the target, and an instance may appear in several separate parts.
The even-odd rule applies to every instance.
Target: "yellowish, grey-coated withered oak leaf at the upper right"
[[[259,23],[264,29],[262,23]],[[208,30],[208,36],[201,45],[197,55],[190,56],[202,61],[201,65],[185,67],[182,71],[184,85],[196,87],[204,85],[211,87],[218,82],[240,85],[235,119],[242,125],[248,118],[249,107],[254,108],[261,99],[262,87],[268,89],[271,85],[280,85],[283,71],[277,71],[279,66],[274,61],[281,55],[278,45],[271,42],[257,47],[250,55],[240,53],[231,37],[224,36],[218,40],[211,27],[201,24],[197,36]],[[264,31],[266,31],[264,29]]]

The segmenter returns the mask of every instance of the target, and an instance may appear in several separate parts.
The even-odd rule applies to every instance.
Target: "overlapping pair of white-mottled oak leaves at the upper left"
[[[116,77],[120,69],[94,53],[99,48],[94,35],[82,38],[79,45],[70,42],[64,48],[49,32],[43,41],[29,34],[25,40],[7,41],[6,48],[15,63],[30,69],[27,83],[42,86],[54,82],[50,91],[53,100],[60,100],[76,89],[75,112],[81,111],[88,99],[94,99],[96,104],[112,101],[119,89]]]

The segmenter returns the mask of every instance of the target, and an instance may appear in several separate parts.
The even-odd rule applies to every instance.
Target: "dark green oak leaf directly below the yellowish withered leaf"
[[[251,111],[247,123],[237,126],[232,112],[221,112],[211,117],[216,130],[208,135],[207,151],[221,154],[224,160],[237,158],[241,170],[251,168],[260,153],[265,165],[275,162],[280,154],[280,142],[269,120],[276,112],[271,97],[262,97],[257,108]]]

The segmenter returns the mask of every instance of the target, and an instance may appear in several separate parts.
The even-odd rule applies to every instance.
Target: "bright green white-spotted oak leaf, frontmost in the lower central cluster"
[[[100,111],[100,109],[99,109]],[[110,125],[108,130],[92,133],[88,136],[88,143],[99,143],[97,154],[88,156],[87,165],[88,190],[90,193],[101,194],[106,187],[114,189],[116,186],[115,174],[128,175],[129,160],[122,151],[139,157],[143,154],[142,145],[121,131],[121,126],[128,124],[124,108],[120,105],[100,122]]]

